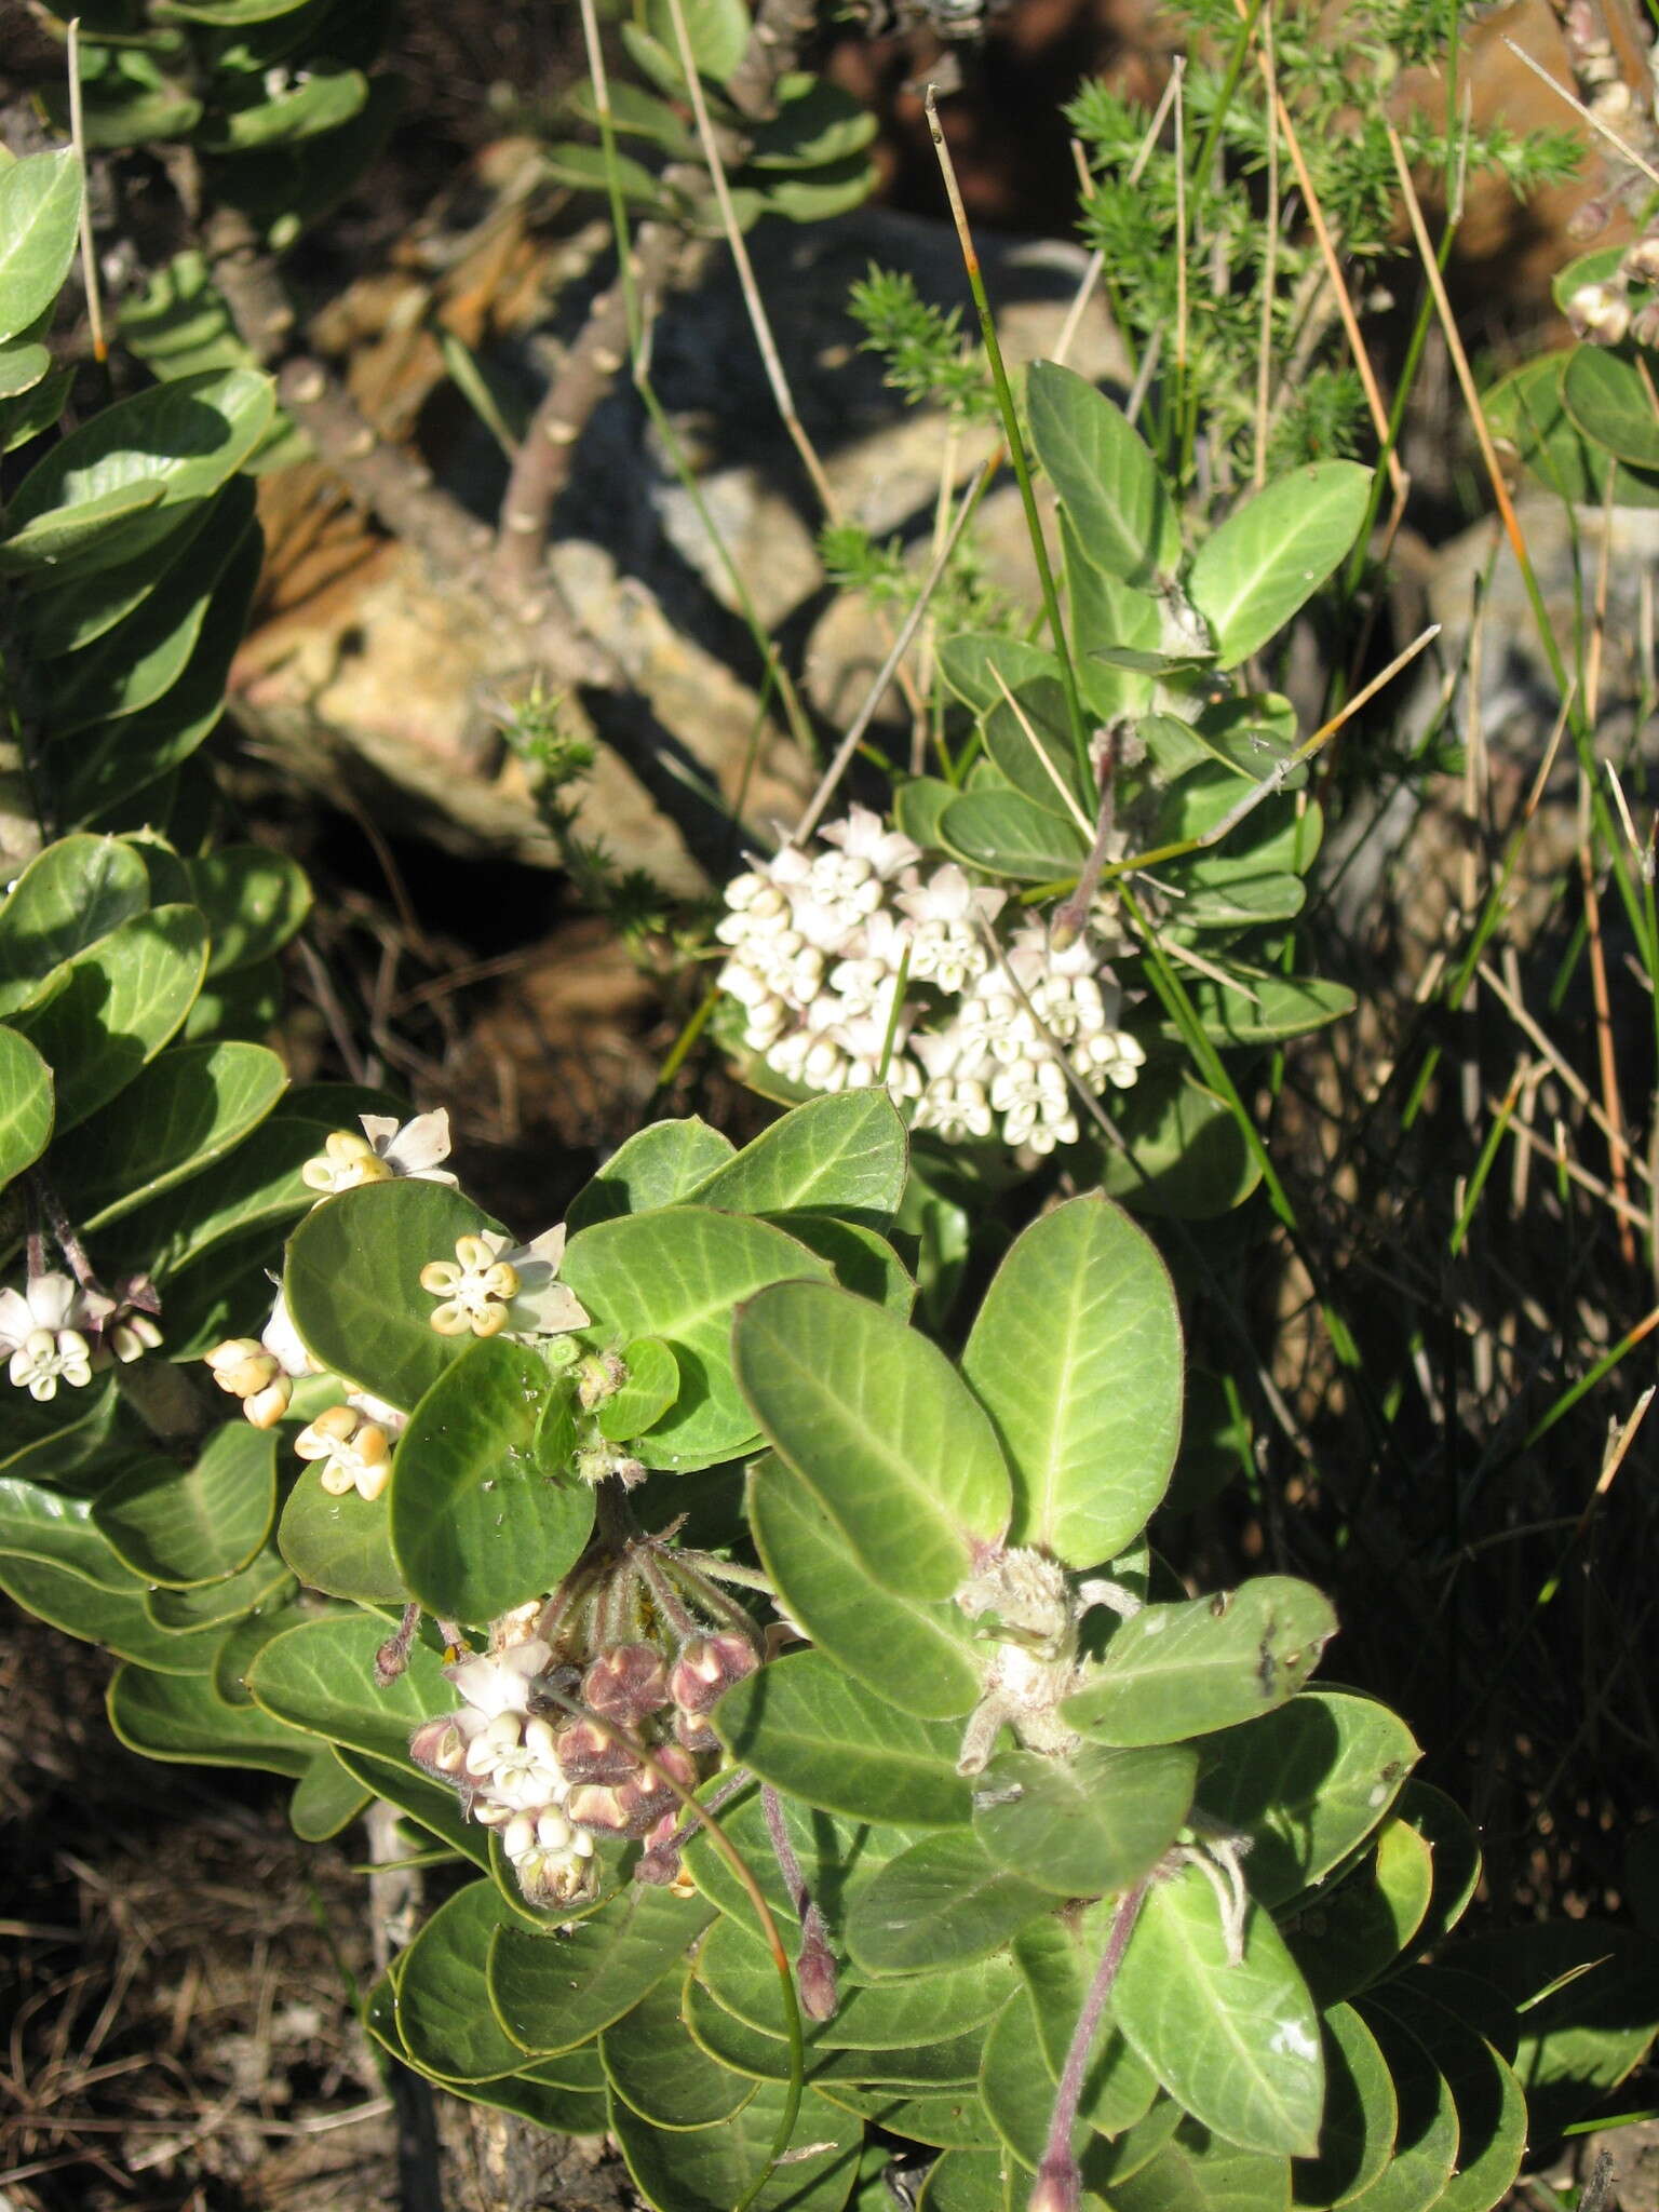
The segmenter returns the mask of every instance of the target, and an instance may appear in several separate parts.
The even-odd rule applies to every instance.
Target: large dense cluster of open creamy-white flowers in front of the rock
[[[1004,891],[956,863],[925,876],[920,847],[867,807],[821,836],[827,849],[785,845],[726,887],[719,987],[745,1046],[810,1091],[885,1082],[914,1128],[953,1144],[1075,1144],[1073,1082],[1126,1088],[1146,1057],[1117,1026],[1106,947],[1057,953],[1040,922],[1000,936]]]

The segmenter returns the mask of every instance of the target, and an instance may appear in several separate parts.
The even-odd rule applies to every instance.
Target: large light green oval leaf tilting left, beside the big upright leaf
[[[743,1307],[734,1371],[772,1447],[896,1595],[951,1597],[971,1544],[1006,1528],[1009,1471],[991,1422],[945,1354],[894,1314],[845,1290],[781,1283]]]

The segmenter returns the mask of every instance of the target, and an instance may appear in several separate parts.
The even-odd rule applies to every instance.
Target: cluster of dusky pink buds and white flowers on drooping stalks
[[[692,1595],[699,1577],[668,1553],[655,1566],[657,1588],[670,1568],[677,1590]],[[633,1584],[628,1559],[577,1571],[542,1608],[546,1632],[504,1641],[522,1619],[498,1621],[491,1652],[445,1670],[460,1710],[422,1721],[409,1743],[418,1765],[453,1783],[469,1818],[500,1829],[531,1905],[595,1896],[599,1836],[644,1843],[637,1880],[681,1880],[681,1796],[719,1752],[708,1714],[759,1666],[745,1628],[697,1624],[675,1599],[675,1635]],[[717,1595],[717,1604],[737,1617],[730,1601]],[[619,1621],[635,1632],[588,1650],[588,1637]]]

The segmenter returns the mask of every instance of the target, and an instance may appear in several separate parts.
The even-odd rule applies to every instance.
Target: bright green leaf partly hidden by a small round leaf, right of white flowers
[[[706,1206],[602,1221],[564,1254],[564,1281],[597,1329],[661,1336],[679,1363],[679,1398],[639,1447],[648,1467],[712,1467],[743,1451],[754,1418],[732,1376],[732,1314],[768,1283],[827,1274],[783,1230]]]

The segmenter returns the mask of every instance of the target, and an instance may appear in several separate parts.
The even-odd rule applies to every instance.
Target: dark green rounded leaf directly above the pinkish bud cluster
[[[535,1458],[546,1360],[487,1338],[409,1416],[392,1469],[392,1551],[440,1619],[487,1624],[551,1590],[593,1528],[593,1489]]]

